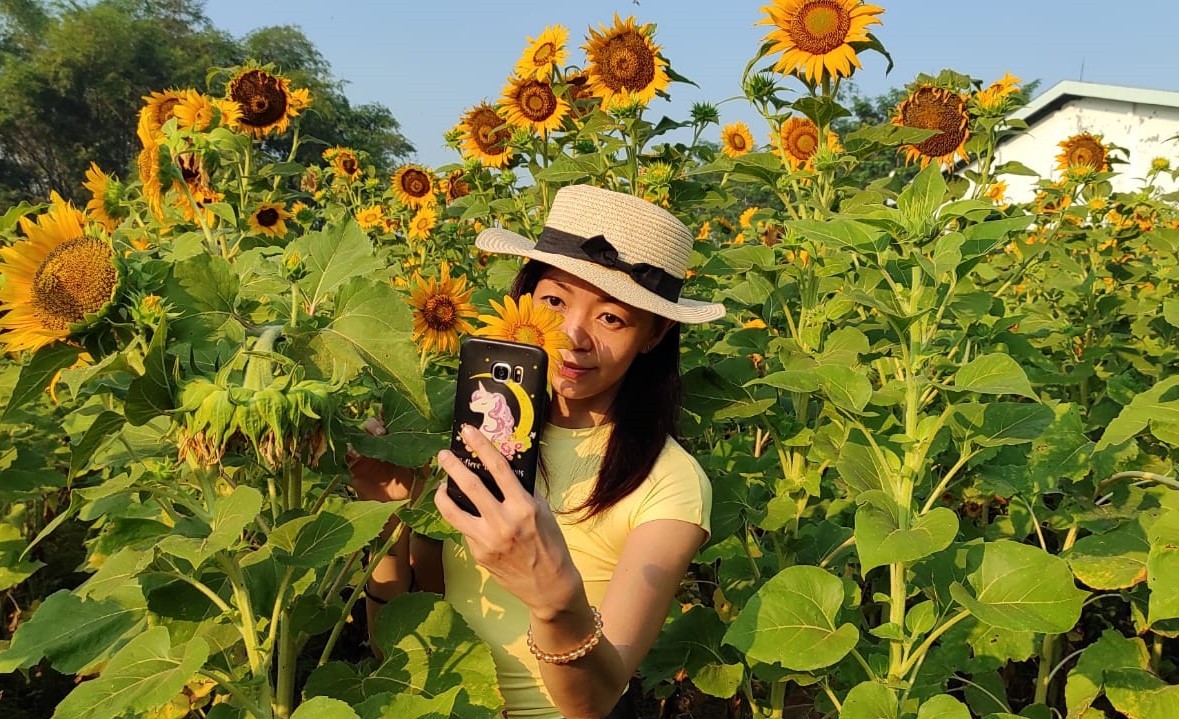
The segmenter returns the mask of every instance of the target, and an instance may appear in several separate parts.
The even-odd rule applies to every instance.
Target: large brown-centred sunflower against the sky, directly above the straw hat
[[[630,100],[633,94],[645,105],[671,84],[667,61],[659,57],[659,46],[651,40],[653,34],[653,25],[638,27],[634,18],[623,21],[618,13],[613,27],[590,28],[584,46],[590,64],[587,85],[590,92],[601,98],[602,110],[619,95]]]

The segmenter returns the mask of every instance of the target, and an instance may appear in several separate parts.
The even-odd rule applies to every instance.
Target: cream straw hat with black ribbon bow
[[[556,191],[535,244],[522,235],[489,227],[479,233],[475,245],[553,265],[626,304],[700,324],[724,317],[725,308],[679,296],[694,242],[684,223],[645,199],[569,185]]]

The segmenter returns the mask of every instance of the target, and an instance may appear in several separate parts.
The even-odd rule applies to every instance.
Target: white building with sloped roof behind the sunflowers
[[[1026,121],[1028,128],[1000,143],[996,165],[1015,160],[1043,178],[1059,177],[1059,144],[1087,132],[1126,150],[1122,157],[1127,163],[1111,167],[1118,172],[1113,183],[1117,192],[1141,189],[1154,158],[1166,158],[1172,167],[1179,167],[1179,140],[1174,139],[1179,136],[1179,92],[1065,80],[1013,117]],[[1007,194],[1017,202],[1030,199],[1035,192],[1034,177],[1008,174],[1002,179]],[[1155,185],[1164,191],[1179,189],[1166,174]]]

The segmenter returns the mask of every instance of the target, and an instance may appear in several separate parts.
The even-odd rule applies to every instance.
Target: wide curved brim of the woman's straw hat
[[[671,302],[639,285],[631,276],[620,270],[604,268],[597,263],[553,252],[538,252],[535,243],[522,235],[502,227],[488,227],[475,238],[475,246],[485,252],[499,255],[516,255],[535,259],[554,268],[565,270],[585,279],[614,299],[654,312],[685,324],[703,324],[714,322],[725,316],[725,305],[716,302],[702,302],[680,297]]]

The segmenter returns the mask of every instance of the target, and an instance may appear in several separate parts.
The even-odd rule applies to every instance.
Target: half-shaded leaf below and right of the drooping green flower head
[[[367,545],[395,509],[395,502],[348,502],[279,525],[270,533],[270,546],[283,565],[322,567]]]

